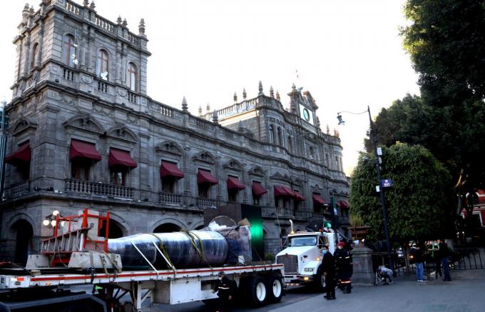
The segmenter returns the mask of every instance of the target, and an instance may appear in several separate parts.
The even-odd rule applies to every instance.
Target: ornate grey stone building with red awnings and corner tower
[[[262,209],[266,251],[322,220],[337,203],[345,228],[348,183],[337,136],[320,130],[310,92],[245,91],[225,109],[193,116],[147,95],[143,19],[103,19],[93,3],[44,0],[22,11],[1,203],[0,258],[22,262],[64,216],[111,212],[110,236],[196,229],[203,210]],[[330,209],[332,212],[333,209]],[[343,215],[342,215],[343,213]]]

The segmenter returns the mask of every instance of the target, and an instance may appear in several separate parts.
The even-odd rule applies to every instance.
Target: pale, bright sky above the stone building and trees
[[[31,1],[34,9],[39,0]],[[82,4],[82,0],[76,0]],[[118,16],[138,34],[145,19],[148,95],[180,109],[210,104],[220,109],[257,95],[258,82],[269,94],[278,90],[289,104],[293,83],[310,91],[319,109],[322,131],[339,131],[347,175],[357,164],[369,129],[370,107],[377,116],[392,101],[419,94],[417,74],[402,48],[399,27],[407,24],[404,0],[96,0],[99,15]],[[0,19],[0,99],[11,99],[14,83],[16,26],[25,0],[2,3]]]

